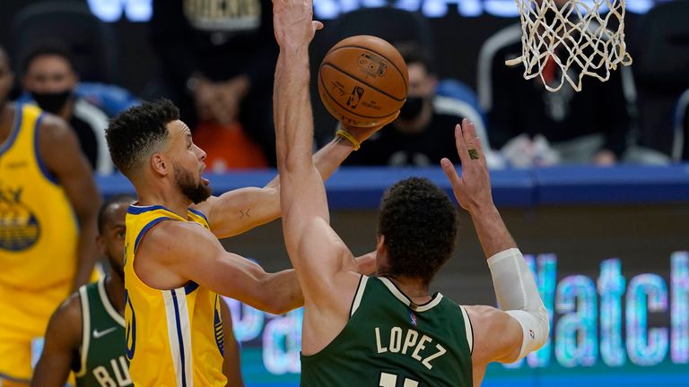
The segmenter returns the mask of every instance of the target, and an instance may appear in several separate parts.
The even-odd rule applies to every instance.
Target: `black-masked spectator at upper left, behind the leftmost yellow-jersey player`
[[[30,50],[22,61],[23,89],[36,104],[72,126],[84,155],[99,175],[113,172],[105,141],[108,116],[74,94],[79,76],[70,52],[58,42]]]

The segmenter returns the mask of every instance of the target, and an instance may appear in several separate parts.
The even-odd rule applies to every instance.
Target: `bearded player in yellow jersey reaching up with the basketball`
[[[376,129],[350,129],[360,141]],[[227,253],[218,238],[280,215],[279,178],[263,188],[210,197],[196,147],[168,100],[132,107],[110,122],[110,156],[139,202],[126,216],[126,357],[136,385],[221,386],[218,294],[282,314],[303,304],[292,270],[266,273]],[[352,152],[333,141],[314,155],[322,178]],[[193,207],[192,203],[196,205]],[[373,256],[370,262],[374,261]]]

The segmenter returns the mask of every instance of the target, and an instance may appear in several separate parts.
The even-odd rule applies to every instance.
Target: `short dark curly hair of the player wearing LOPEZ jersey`
[[[454,252],[457,210],[430,180],[410,177],[383,196],[378,232],[388,250],[388,267],[379,274],[428,285]]]

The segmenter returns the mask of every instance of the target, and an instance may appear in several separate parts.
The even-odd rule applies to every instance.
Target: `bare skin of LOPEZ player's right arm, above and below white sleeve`
[[[462,161],[461,176],[458,176],[449,159],[442,159],[440,164],[459,205],[469,212],[474,221],[486,259],[517,247],[493,204],[488,167],[474,125],[467,119],[463,120],[462,125],[455,128],[455,140]],[[469,150],[475,150],[478,159],[472,159]],[[465,308],[474,330],[474,351],[471,356],[474,385],[480,386],[489,363],[510,363],[519,357],[523,333],[517,320],[500,309],[487,305],[467,305]]]

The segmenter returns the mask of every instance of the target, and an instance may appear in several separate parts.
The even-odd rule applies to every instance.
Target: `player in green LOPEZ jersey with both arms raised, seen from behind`
[[[388,190],[379,215],[378,277],[355,272],[352,253],[329,226],[326,191],[310,159],[309,44],[322,24],[311,20],[309,0],[273,4],[283,232],[304,296],[301,385],[479,386],[488,363],[540,348],[548,314],[493,205],[481,143],[467,120],[455,129],[462,176],[448,159],[441,165],[474,221],[502,310],[429,293],[453,252],[457,219],[447,195],[426,179]]]

